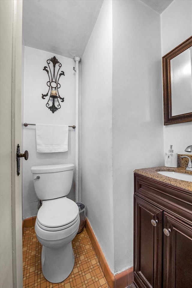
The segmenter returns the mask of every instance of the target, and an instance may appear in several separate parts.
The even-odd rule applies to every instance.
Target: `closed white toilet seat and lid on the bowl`
[[[37,224],[47,231],[59,231],[66,229],[79,218],[77,204],[66,196],[45,200],[37,214]]]

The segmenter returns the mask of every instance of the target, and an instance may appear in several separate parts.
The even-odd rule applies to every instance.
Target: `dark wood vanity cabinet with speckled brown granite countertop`
[[[134,283],[138,288],[188,288],[192,287],[192,182],[157,172],[162,170],[167,169],[134,171]]]

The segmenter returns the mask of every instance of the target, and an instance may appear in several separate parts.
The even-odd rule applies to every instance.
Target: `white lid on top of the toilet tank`
[[[58,164],[58,165],[44,165],[44,166],[33,166],[31,173],[51,173],[61,172],[74,169],[74,164]]]

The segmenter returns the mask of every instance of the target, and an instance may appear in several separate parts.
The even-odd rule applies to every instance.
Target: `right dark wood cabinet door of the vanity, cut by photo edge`
[[[164,229],[163,287],[192,287],[192,227],[164,212]]]

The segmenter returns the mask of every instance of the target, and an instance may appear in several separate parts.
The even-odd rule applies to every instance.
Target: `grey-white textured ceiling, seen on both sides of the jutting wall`
[[[172,2],[141,1],[158,13]],[[23,0],[25,46],[68,58],[82,57],[102,4],[103,0]]]

